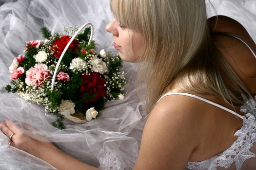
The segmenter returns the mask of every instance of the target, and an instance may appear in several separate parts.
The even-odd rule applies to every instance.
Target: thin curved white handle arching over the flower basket
[[[59,64],[64,56],[64,54],[66,53],[66,51],[68,50],[70,44],[73,42],[73,40],[76,38],[76,36],[82,31],[82,29],[84,27],[86,27],[87,25],[90,25],[91,27],[91,35],[90,35],[90,38],[89,38],[89,41],[88,41],[88,45],[90,44],[92,38],[93,38],[93,25],[91,23],[86,23],[84,24],[83,26],[81,26],[79,28],[79,30],[72,36],[72,38],[69,40],[68,44],[66,45],[65,49],[63,50],[63,52],[61,53],[60,57],[59,57],[59,61],[56,65],[56,68],[54,70],[54,74],[53,74],[53,78],[52,78],[52,85],[51,85],[51,91],[53,91],[53,88],[54,88],[54,82],[55,82],[55,78],[56,78],[56,74],[57,74],[57,71],[58,71],[58,68],[59,68]]]

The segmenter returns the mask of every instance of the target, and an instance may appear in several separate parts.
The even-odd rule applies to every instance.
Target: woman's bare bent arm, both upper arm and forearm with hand
[[[184,99],[189,100],[184,96],[167,96],[152,110],[143,131],[134,170],[184,170],[200,138],[200,120],[191,112],[195,106],[186,104],[184,107]],[[0,123],[0,127],[6,136],[15,133],[12,146],[39,157],[59,170],[98,170],[63,153],[51,143],[24,135],[8,119],[6,125]]]

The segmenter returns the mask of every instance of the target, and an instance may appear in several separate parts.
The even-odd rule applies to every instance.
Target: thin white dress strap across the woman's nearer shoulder
[[[215,103],[215,102],[209,101],[209,100],[207,100],[207,99],[204,99],[204,98],[201,98],[201,97],[199,97],[199,96],[196,96],[196,95],[193,95],[193,94],[189,94],[189,93],[173,93],[173,92],[167,92],[167,93],[165,93],[164,95],[162,95],[162,96],[160,97],[160,99],[158,100],[158,102],[159,102],[163,97],[169,96],[169,95],[184,95],[184,96],[193,97],[193,98],[199,99],[199,100],[201,100],[201,101],[207,102],[207,103],[209,103],[209,104],[215,105],[216,107],[221,108],[221,109],[223,109],[223,110],[225,110],[225,111],[227,111],[227,112],[229,112],[229,113],[232,113],[233,115],[236,115],[237,117],[243,119],[243,117],[242,117],[241,115],[239,115],[238,113],[234,112],[233,110],[230,110],[230,109],[228,109],[228,108],[226,108],[226,107],[224,107],[224,106],[222,106],[222,105],[220,105],[220,104],[217,104],[217,103]]]

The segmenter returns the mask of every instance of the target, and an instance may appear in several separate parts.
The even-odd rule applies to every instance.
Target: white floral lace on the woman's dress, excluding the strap
[[[250,148],[256,141],[255,101],[247,100],[240,110],[247,114],[243,116],[243,126],[236,131],[235,136],[238,137],[231,147],[210,159],[188,162],[186,170],[217,170],[218,166],[227,169],[233,162],[236,163],[236,170],[240,170],[246,159],[256,156],[255,153],[250,152]]]

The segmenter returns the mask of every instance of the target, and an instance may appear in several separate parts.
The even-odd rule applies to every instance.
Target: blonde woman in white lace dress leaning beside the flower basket
[[[138,80],[147,85],[150,115],[134,170],[252,169],[256,121],[239,112],[241,94],[256,93],[256,45],[246,30],[228,17],[207,21],[202,0],[111,0],[111,9],[114,47],[124,61],[139,62]],[[8,119],[0,127],[12,146],[57,169],[97,169]]]

